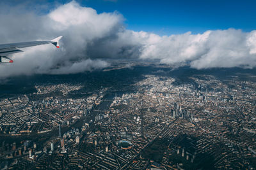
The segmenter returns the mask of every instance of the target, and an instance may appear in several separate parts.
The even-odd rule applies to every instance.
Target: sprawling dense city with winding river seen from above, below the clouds
[[[102,72],[118,80],[141,71],[127,85],[109,80],[121,89],[40,83],[31,93],[3,96],[1,168],[255,168],[255,74],[201,71],[181,80],[186,67],[179,76],[182,69],[133,67]]]

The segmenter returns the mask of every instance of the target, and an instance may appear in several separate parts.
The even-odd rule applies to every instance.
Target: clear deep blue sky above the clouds
[[[127,29],[157,34],[188,31],[256,28],[256,1],[225,0],[87,0],[78,1],[98,12],[118,11],[125,17]]]

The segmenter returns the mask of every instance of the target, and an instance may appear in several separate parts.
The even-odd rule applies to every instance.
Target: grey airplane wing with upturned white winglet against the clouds
[[[20,48],[36,46],[36,45],[45,45],[52,43],[57,48],[60,48],[59,41],[62,36],[52,39],[51,41],[31,41],[31,42],[23,42],[23,43],[10,43],[0,45],[0,63],[12,63],[13,60],[7,57],[6,55],[10,55],[11,53],[23,52]]]

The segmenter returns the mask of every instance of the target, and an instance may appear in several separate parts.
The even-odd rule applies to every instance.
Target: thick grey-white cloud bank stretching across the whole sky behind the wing
[[[109,66],[105,59],[156,59],[164,64],[188,63],[196,69],[256,66],[256,31],[227,29],[158,36],[127,30],[120,13],[97,13],[76,1],[58,6],[45,15],[19,6],[1,6],[0,43],[60,35],[63,39],[60,49],[42,45],[11,55],[14,63],[0,65],[0,78],[79,73]]]

